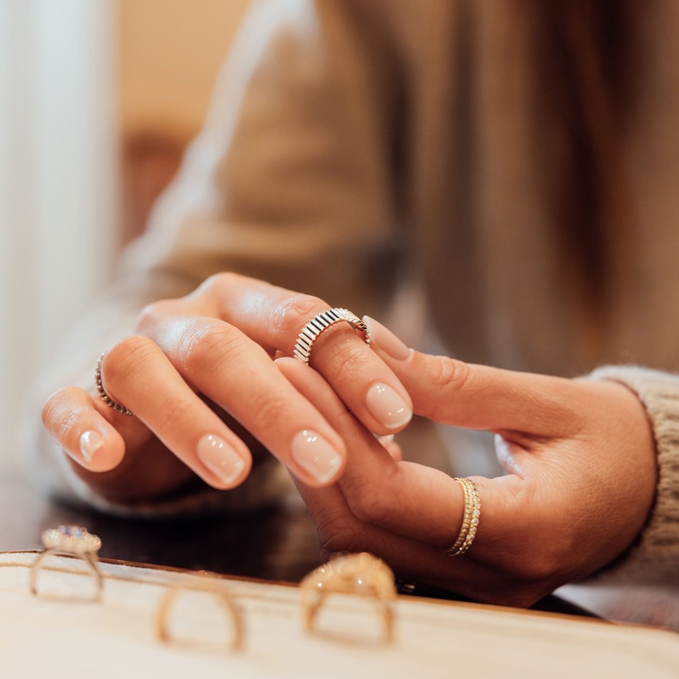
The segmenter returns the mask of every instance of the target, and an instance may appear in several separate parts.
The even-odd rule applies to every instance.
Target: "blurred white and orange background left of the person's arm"
[[[249,0],[0,0],[0,460],[202,125]]]

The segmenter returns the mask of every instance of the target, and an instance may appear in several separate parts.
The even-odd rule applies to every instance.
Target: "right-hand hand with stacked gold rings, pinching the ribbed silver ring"
[[[625,386],[427,356],[372,326],[375,349],[409,390],[415,412],[494,432],[508,475],[472,477],[481,498],[477,534],[466,555],[446,555],[462,522],[458,483],[394,460],[320,375],[279,359],[347,443],[337,485],[298,483],[327,551],[370,551],[406,578],[528,606],[629,547],[653,502],[656,471],[646,414]]]

